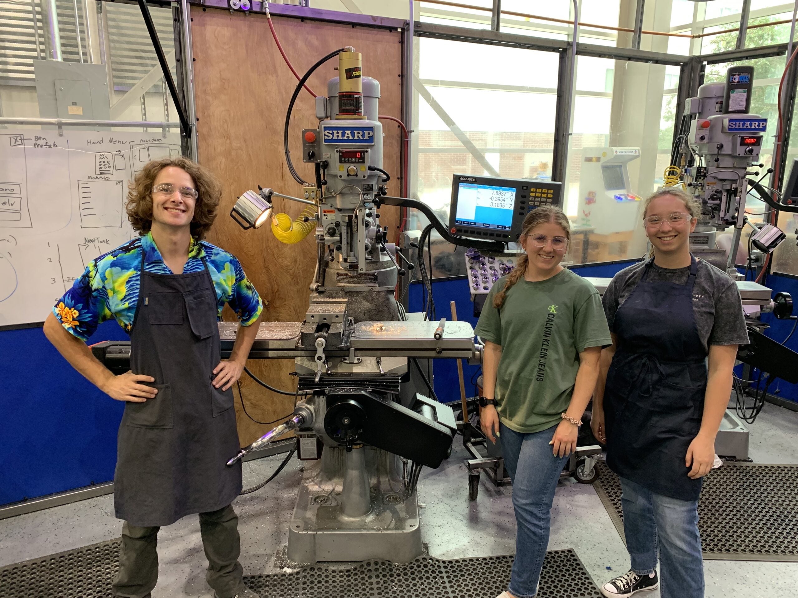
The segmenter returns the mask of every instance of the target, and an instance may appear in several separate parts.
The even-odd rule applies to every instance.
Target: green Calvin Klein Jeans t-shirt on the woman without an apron
[[[496,376],[501,422],[531,434],[559,423],[567,410],[579,353],[612,340],[599,292],[571,270],[539,282],[522,278],[496,309],[493,297],[506,281],[501,277],[488,293],[476,334],[502,347]]]

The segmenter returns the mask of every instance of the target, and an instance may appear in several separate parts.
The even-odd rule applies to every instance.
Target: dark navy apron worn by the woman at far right
[[[697,260],[684,285],[647,281],[652,258],[615,314],[618,347],[606,376],[606,462],[616,474],[671,498],[695,501],[703,478],[685,456],[701,428],[706,351],[693,315]]]

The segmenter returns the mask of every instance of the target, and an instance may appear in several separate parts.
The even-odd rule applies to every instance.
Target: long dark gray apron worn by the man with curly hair
[[[114,507],[132,525],[169,525],[221,509],[241,491],[233,391],[211,384],[219,364],[216,291],[203,271],[144,272],[130,332],[130,368],[155,378],[154,399],[125,403]]]

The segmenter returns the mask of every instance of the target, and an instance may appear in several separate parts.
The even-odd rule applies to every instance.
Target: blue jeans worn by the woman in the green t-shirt
[[[516,560],[508,591],[517,598],[538,592],[540,569],[548,547],[551,502],[567,457],[555,457],[549,446],[556,426],[535,434],[520,434],[500,423],[504,467],[512,478],[516,511]]]

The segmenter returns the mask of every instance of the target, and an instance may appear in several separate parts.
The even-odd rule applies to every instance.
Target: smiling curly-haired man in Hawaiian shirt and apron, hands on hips
[[[148,598],[158,579],[158,530],[192,513],[216,598],[257,598],[243,584],[238,517],[241,464],[233,392],[258,332],[263,304],[239,261],[203,236],[221,185],[176,157],[136,175],[127,211],[136,238],[89,263],[45,321],[44,332],[73,368],[124,401],[114,508],[124,520],[114,596]],[[224,304],[240,325],[220,359]],[[130,335],[131,370],[114,376],[85,341],[114,318]]]

